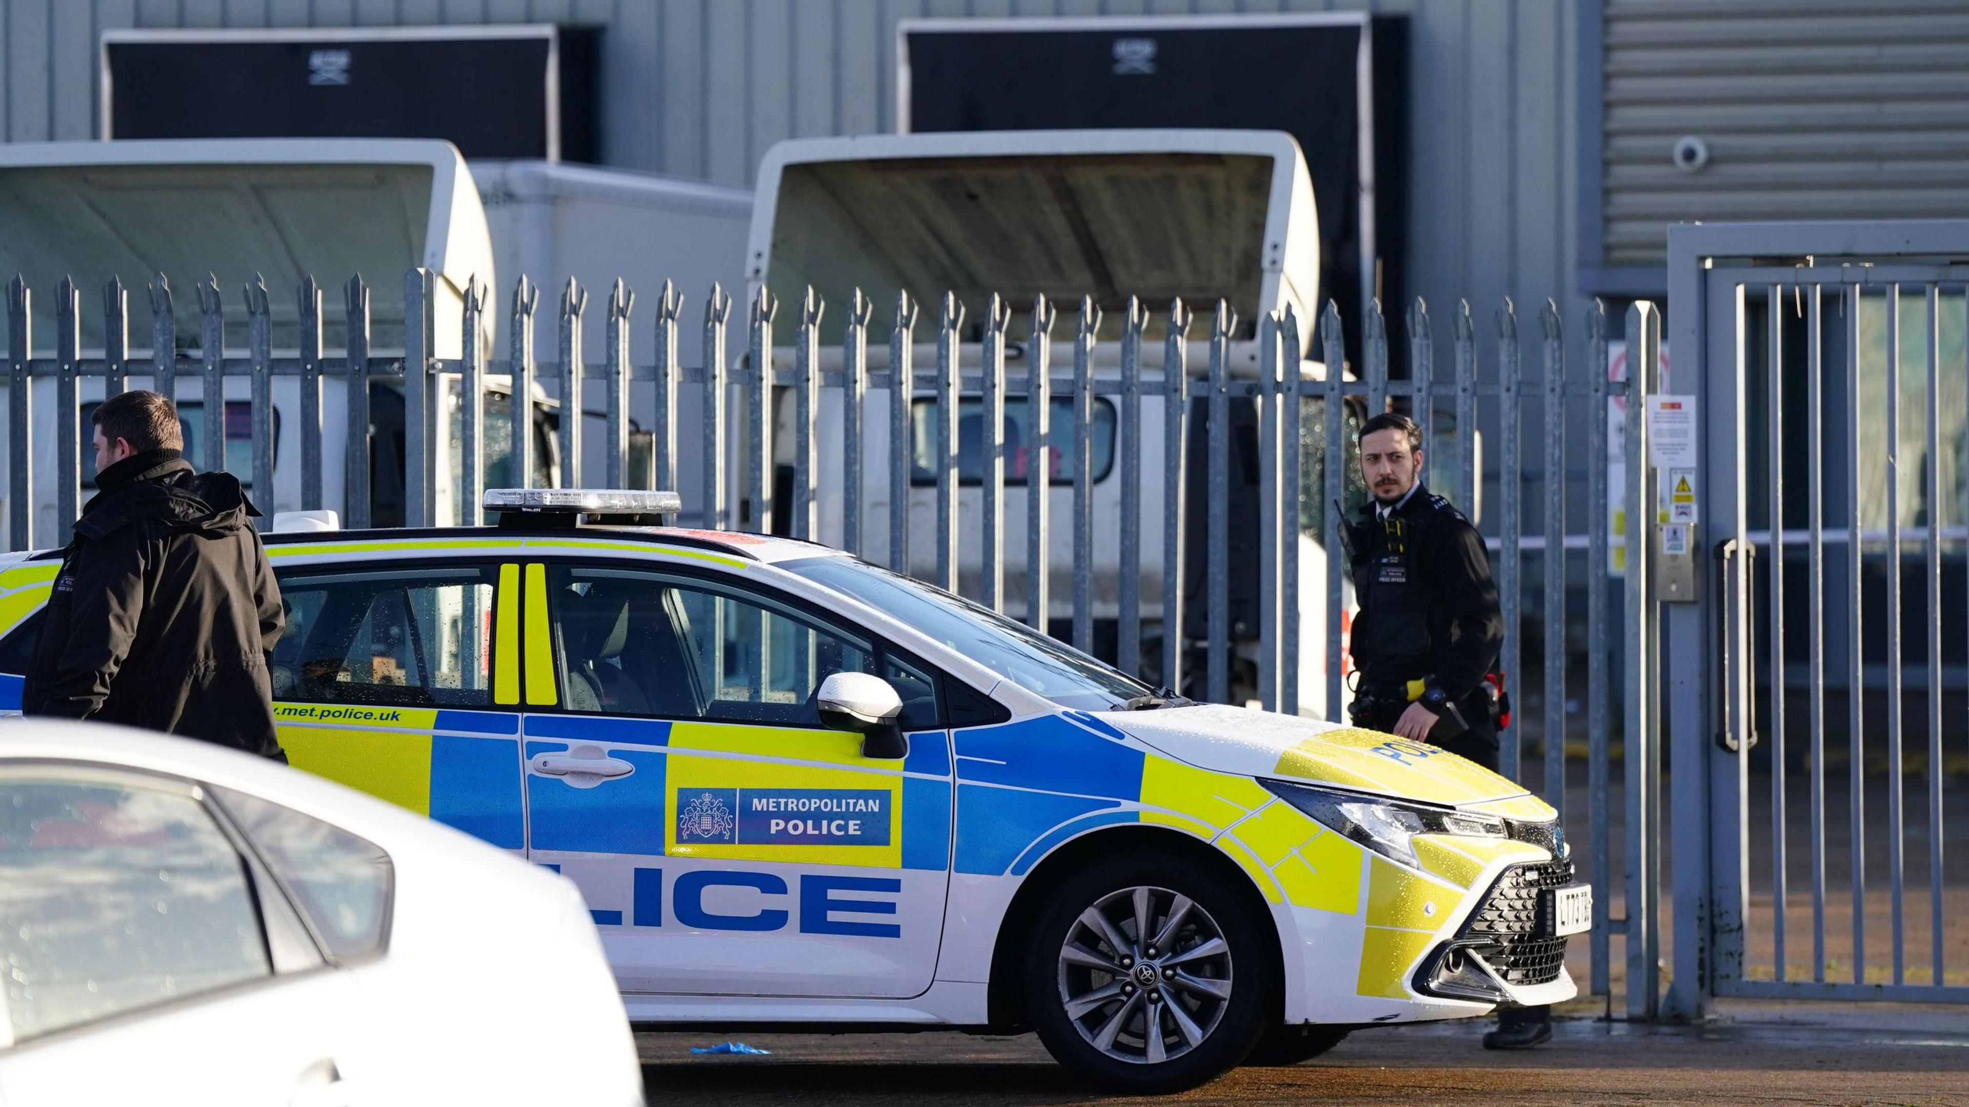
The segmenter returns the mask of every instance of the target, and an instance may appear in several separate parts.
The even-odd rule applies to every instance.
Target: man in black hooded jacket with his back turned
[[[207,404],[207,433],[224,416]],[[96,496],[63,552],[26,715],[100,719],[286,760],[266,654],[286,620],[258,516],[230,473],[193,473],[156,392],[96,408]]]

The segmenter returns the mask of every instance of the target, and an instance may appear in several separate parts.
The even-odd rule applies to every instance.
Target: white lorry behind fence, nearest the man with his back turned
[[[435,355],[463,351],[463,290],[476,278],[490,290],[478,329],[480,349],[506,357],[504,329],[512,290],[504,280],[526,272],[543,286],[538,357],[551,362],[559,290],[569,276],[599,292],[587,315],[585,355],[601,360],[603,325],[597,303],[608,284],[624,278],[644,295],[664,278],[703,293],[713,282],[742,280],[750,193],[640,173],[585,169],[543,162],[469,165],[447,142],[433,140],[173,140],[173,142],[49,142],[0,146],[0,272],[22,274],[33,292],[33,357],[53,353],[55,288],[63,276],[79,286],[81,351],[102,357],[102,286],[120,278],[130,293],[128,341],[134,386],[150,384],[152,305],[146,284],[163,272],[171,284],[177,349],[199,347],[197,284],[219,280],[226,309],[226,353],[244,357],[248,315],[242,288],[254,276],[268,286],[274,355],[293,357],[299,309],[295,286],[313,274],[323,284],[323,349],[343,351],[343,284],[362,274],[370,286],[370,349],[398,357],[404,347],[404,274],[423,266],[435,274]],[[664,248],[652,250],[652,242]],[[703,288],[697,288],[703,286]],[[642,313],[648,315],[648,309]],[[648,358],[648,327],[636,327],[632,353]],[[506,390],[502,376],[490,380]],[[638,388],[648,388],[640,384]],[[250,479],[250,382],[226,380],[228,469]],[[457,420],[457,378],[433,386]],[[179,410],[193,439],[205,433],[205,396],[197,376],[179,376]],[[79,380],[83,416],[81,496],[91,492],[87,414],[102,400],[100,376]],[[583,398],[601,420],[599,384]],[[634,410],[648,396],[632,394]],[[559,404],[536,390],[536,479],[563,473],[553,422]],[[256,492],[262,510],[301,506],[299,380],[274,380],[274,492]],[[510,441],[502,404],[488,404],[488,481],[510,483],[500,447]],[[378,526],[404,518],[402,388],[376,382],[370,390],[370,516]],[[55,386],[37,380],[33,425],[55,425]],[[0,425],[0,467],[10,457]],[[437,522],[453,522],[457,504],[453,443],[435,443]],[[593,457],[581,473],[601,473],[601,433],[585,435]],[[642,437],[642,435],[638,435]],[[323,502],[347,508],[343,494],[347,390],[335,378],[323,386]],[[187,443],[197,457],[197,445]],[[53,433],[33,435],[35,488],[51,487]],[[569,467],[571,469],[571,467]],[[642,467],[648,469],[648,463]],[[634,467],[632,467],[634,471]],[[0,485],[4,487],[4,485]],[[35,496],[33,544],[59,542],[53,494]]]

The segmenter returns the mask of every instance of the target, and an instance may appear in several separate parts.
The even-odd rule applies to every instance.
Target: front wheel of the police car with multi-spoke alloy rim
[[[1272,973],[1246,896],[1179,857],[1075,873],[1026,947],[1026,1003],[1048,1052],[1118,1091],[1195,1087],[1264,1028]]]

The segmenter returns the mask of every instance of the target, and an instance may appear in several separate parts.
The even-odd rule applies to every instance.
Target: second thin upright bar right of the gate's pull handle
[[[1811,979],[1825,983],[1825,309],[1819,284],[1806,299],[1806,508],[1810,512],[1811,626]],[[1859,555],[1859,550],[1853,552]],[[1939,932],[1937,932],[1939,934]]]

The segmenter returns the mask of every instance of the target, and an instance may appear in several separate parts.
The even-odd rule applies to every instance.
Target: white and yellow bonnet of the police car
[[[1449,750],[1378,731],[1227,705],[1105,711],[1099,719],[1168,756],[1217,772],[1552,817],[1516,782]]]

